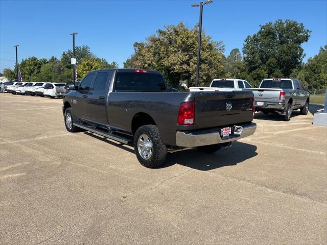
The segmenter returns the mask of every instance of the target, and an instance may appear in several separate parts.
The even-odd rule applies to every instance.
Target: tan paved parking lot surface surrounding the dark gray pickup
[[[147,169],[131,146],[68,133],[61,106],[0,95],[1,244],[326,244],[327,129],[311,113],[256,113],[231,148]]]

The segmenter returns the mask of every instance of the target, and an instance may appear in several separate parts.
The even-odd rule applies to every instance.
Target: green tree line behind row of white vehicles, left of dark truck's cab
[[[60,59],[54,56],[49,60],[36,57],[23,59],[19,64],[21,76],[26,82],[73,82],[72,57],[73,51],[67,50],[62,53]],[[78,80],[91,70],[118,67],[115,62],[108,63],[105,59],[96,57],[88,46],[76,46],[75,58],[78,62]],[[16,66],[13,70],[5,68],[3,73],[9,80],[16,79]]]

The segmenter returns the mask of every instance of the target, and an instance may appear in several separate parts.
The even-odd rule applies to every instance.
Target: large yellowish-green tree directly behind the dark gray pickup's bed
[[[162,72],[173,87],[182,83],[195,84],[198,30],[188,29],[182,22],[165,26],[145,42],[134,43],[134,54],[124,63],[125,68],[155,69]],[[224,46],[211,40],[202,32],[200,81],[208,85],[213,78],[223,74]]]

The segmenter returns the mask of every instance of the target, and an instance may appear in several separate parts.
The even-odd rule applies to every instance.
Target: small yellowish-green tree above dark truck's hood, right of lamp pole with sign
[[[78,71],[78,80],[82,80],[88,72],[92,70],[99,69],[109,69],[109,68],[118,68],[118,64],[116,62],[108,63],[105,59],[100,58],[87,58],[83,59],[77,65]]]

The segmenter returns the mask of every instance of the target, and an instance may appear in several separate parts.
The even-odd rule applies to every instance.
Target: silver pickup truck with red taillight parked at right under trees
[[[255,111],[262,111],[265,114],[277,112],[283,115],[286,121],[291,119],[292,110],[300,109],[301,114],[308,114],[310,93],[297,79],[264,79],[259,88],[244,90],[253,92]]]

